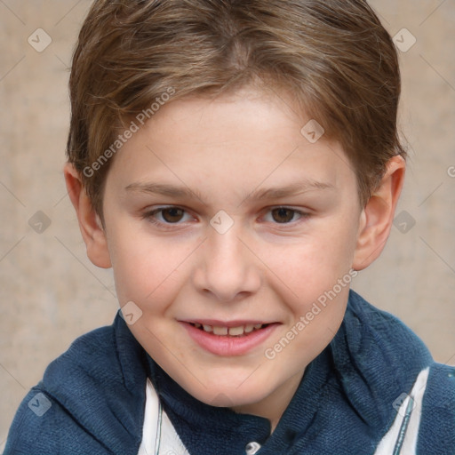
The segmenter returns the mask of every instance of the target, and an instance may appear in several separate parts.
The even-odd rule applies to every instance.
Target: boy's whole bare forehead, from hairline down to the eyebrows
[[[307,130],[302,133],[311,120],[289,97],[253,89],[174,100],[124,144],[111,172],[125,187],[191,180],[205,189],[233,184],[243,195],[262,182],[338,188],[353,180],[338,142],[324,136],[310,141]]]

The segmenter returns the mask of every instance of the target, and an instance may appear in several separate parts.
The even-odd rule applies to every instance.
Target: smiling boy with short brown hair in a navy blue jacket
[[[70,94],[68,193],[122,310],[5,454],[455,453],[455,370],[349,289],[405,167],[368,4],[97,0]]]

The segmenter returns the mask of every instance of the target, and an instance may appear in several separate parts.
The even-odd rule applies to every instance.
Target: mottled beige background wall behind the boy
[[[0,0],[0,451],[45,366],[77,336],[111,323],[117,308],[110,271],[85,257],[61,174],[68,65],[89,4]],[[402,318],[437,361],[455,364],[455,3],[371,4],[392,35],[407,28],[417,39],[400,52],[411,160],[397,212],[415,226],[394,227],[382,257],[353,287]],[[28,44],[36,28],[52,37],[44,52]],[[41,234],[28,224],[38,211],[51,220]]]

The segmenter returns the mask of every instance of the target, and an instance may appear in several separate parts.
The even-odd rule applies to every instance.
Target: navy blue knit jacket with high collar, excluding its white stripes
[[[372,455],[394,422],[397,397],[427,367],[416,453],[453,455],[455,369],[435,363],[395,316],[350,291],[339,331],[307,366],[270,435],[267,419],[188,395],[116,315],[48,366],[20,404],[4,455],[137,455],[147,378],[191,455],[243,455],[251,441],[262,444],[258,455]]]

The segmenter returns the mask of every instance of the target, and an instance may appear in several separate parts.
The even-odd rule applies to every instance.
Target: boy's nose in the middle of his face
[[[260,261],[239,234],[234,227],[225,234],[211,228],[193,274],[197,291],[229,302],[259,290]]]

